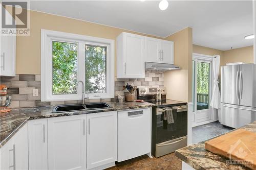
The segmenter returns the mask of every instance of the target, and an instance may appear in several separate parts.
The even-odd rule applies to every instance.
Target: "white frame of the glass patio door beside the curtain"
[[[212,95],[212,86],[213,86],[213,71],[212,71],[212,57],[213,56],[209,56],[209,55],[203,55],[203,54],[197,54],[197,53],[193,53],[193,61],[195,61],[195,66],[197,65],[197,62],[204,62],[204,63],[209,63],[210,64],[210,73],[209,73],[209,105],[210,105],[210,101],[211,101],[211,95]],[[195,67],[196,68],[196,67]],[[193,118],[192,118],[192,127],[195,126],[199,126],[199,125],[203,125],[203,124],[207,124],[209,122],[214,122],[214,117],[212,114],[212,109],[209,108],[208,109],[203,109],[203,110],[196,110],[197,109],[197,69],[195,69],[195,85],[194,85],[194,91],[195,91],[195,96],[194,96],[194,110],[192,112],[193,114]],[[192,90],[193,92],[193,90]],[[192,95],[193,96],[193,95]],[[209,117],[205,120],[202,120],[200,122],[196,122],[196,114],[197,113],[203,113],[205,112],[206,114],[209,115]]]

